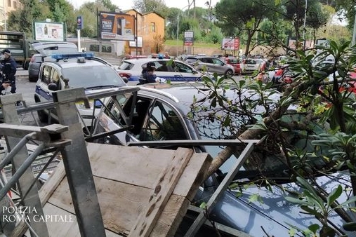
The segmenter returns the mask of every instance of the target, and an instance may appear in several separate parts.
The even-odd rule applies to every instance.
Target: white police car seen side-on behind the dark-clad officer
[[[127,77],[128,81],[139,81],[147,62],[154,62],[156,67],[154,74],[166,81],[198,81],[202,77],[200,72],[184,62],[158,58],[124,60],[117,72],[120,76]]]

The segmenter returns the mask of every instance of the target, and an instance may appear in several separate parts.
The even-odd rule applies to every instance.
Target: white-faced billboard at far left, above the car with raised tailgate
[[[34,39],[38,41],[65,41],[65,25],[58,22],[34,22]]]

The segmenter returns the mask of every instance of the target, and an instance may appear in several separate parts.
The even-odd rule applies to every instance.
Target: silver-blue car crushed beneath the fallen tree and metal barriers
[[[233,89],[227,89],[221,91],[221,93],[232,100],[239,100]],[[166,84],[152,84],[150,86],[147,84],[140,86],[137,97],[131,94],[112,97],[107,101],[107,107],[103,108],[103,114],[100,114],[98,118],[98,133],[112,132],[127,126],[126,121],[128,120],[120,114],[120,111],[132,116],[133,128],[122,133],[110,134],[97,142],[123,145],[130,142],[151,141],[159,145],[164,140],[183,140],[181,144],[173,143],[164,146],[166,149],[176,149],[179,146],[187,146],[184,140],[230,139],[231,133],[225,131],[226,133],[223,134],[223,129],[220,128],[218,120],[209,116],[210,110],[206,110],[211,109],[209,104],[205,104],[205,110],[194,110],[194,115],[198,116],[198,119],[187,116],[187,114],[192,115],[191,105],[193,101],[201,101],[208,96],[209,92],[206,91],[206,87],[184,83],[184,85],[174,84],[171,86]],[[251,100],[254,96],[256,95],[251,90],[246,90],[240,95],[241,98],[246,98],[246,100]],[[280,94],[276,93],[269,97],[277,102],[279,96]],[[118,107],[118,104],[121,104],[122,107]],[[202,116],[202,118],[205,116],[205,119],[199,119],[199,116]],[[243,116],[230,117],[230,120],[235,121],[235,123],[244,123]],[[321,128],[315,128],[315,130],[317,129],[321,130]],[[296,132],[295,138],[294,145],[296,148],[307,145],[305,140],[301,137],[298,138],[298,132]],[[195,151],[206,151],[212,157],[216,157],[221,149],[218,146],[195,147]],[[223,180],[234,164],[242,159],[237,157],[239,154],[235,155],[220,167],[214,178],[206,180],[204,186],[199,189],[193,203],[199,205],[209,201],[220,184],[219,180]],[[235,187],[230,186],[223,190],[222,196],[216,200],[215,208],[209,212],[209,221],[225,224],[251,236],[289,236],[291,226],[305,230],[308,229],[310,224],[318,223],[321,225],[312,215],[301,212],[298,205],[285,200],[284,197],[287,193],[298,194],[301,192],[301,188],[295,183],[295,180],[291,179],[289,168],[284,161],[274,156],[268,156],[268,154],[265,155],[265,161],[258,161],[256,156],[251,156],[241,164],[241,168],[234,178]],[[322,165],[327,165],[324,161],[320,156],[313,157],[307,163],[312,170],[313,166],[321,168]],[[298,161],[291,161],[291,163],[294,162]],[[320,176],[317,173],[315,175],[315,182],[322,187],[327,187],[327,190],[335,187],[336,184],[341,184],[344,187],[343,190],[350,185],[350,176],[347,175],[338,173],[330,176]],[[249,182],[253,180],[260,180],[259,182],[262,183],[265,177],[274,180],[270,183],[271,186],[256,187],[256,185],[249,185]],[[250,197],[256,195],[259,196],[260,202],[251,201]],[[329,219],[335,226],[342,228],[343,221],[334,212]],[[345,233],[355,236],[355,233],[347,231]]]

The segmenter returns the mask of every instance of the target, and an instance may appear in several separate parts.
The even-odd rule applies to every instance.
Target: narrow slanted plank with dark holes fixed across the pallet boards
[[[159,175],[157,185],[153,190],[147,208],[145,208],[144,212],[140,213],[136,224],[128,236],[150,235],[192,154],[192,149],[177,149],[176,154],[170,161],[170,165]]]

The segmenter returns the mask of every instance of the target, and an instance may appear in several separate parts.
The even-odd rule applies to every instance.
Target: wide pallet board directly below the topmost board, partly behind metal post
[[[94,177],[105,229],[128,234],[145,208],[152,189]],[[70,188],[64,179],[48,203],[74,214]]]

